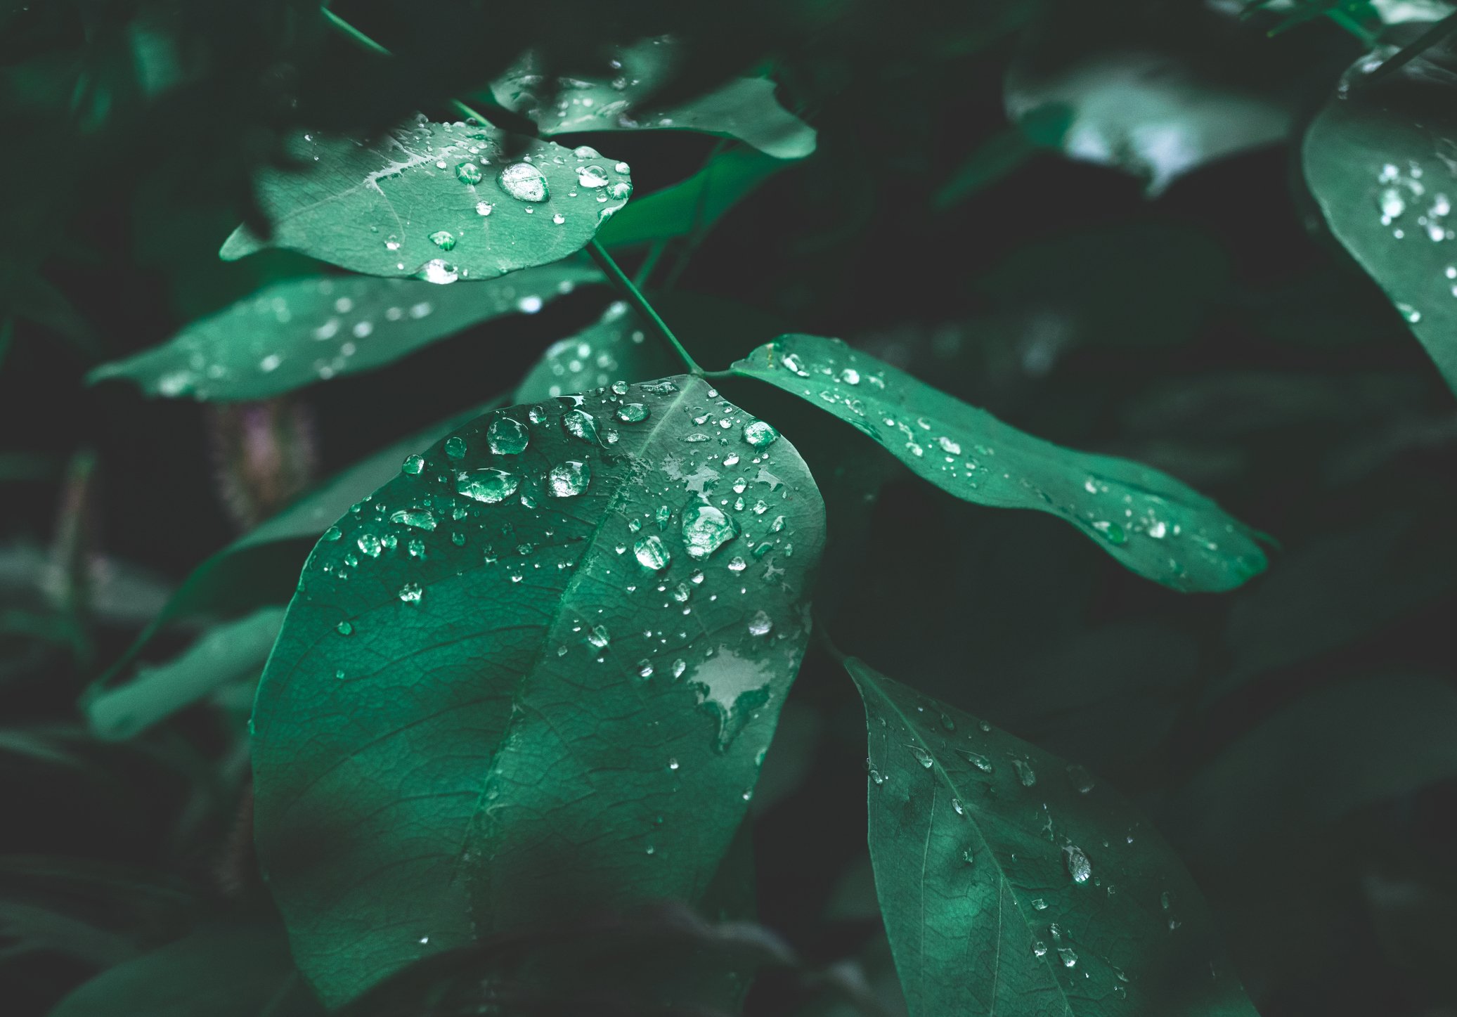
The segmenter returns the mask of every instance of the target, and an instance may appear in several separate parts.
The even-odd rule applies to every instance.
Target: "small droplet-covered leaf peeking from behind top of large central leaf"
[[[628,305],[615,300],[600,319],[551,344],[522,379],[514,399],[539,402],[619,380],[645,382],[669,373],[673,364],[661,342],[648,341],[647,329]]]

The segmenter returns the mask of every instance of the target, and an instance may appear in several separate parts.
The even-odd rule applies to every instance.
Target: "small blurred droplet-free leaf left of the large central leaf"
[[[220,685],[258,675],[281,624],[281,608],[262,608],[216,625],[175,660],[138,667],[130,682],[86,704],[92,733],[108,740],[134,737]]]

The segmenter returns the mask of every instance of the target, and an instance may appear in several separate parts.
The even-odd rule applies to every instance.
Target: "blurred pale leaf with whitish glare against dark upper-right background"
[[[1062,152],[1147,181],[1154,197],[1203,163],[1279,141],[1295,77],[1287,55],[1198,6],[1176,23],[1136,4],[1061,4],[1007,70],[1007,114],[1071,109]]]

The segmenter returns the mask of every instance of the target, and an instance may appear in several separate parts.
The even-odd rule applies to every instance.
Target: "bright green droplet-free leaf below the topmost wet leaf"
[[[727,149],[686,181],[634,201],[602,227],[599,239],[628,245],[702,236],[784,166],[752,149]]]

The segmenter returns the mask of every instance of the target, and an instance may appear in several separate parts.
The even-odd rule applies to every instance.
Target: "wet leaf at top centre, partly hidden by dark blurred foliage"
[[[682,57],[669,36],[643,39],[613,54],[610,80],[558,79],[551,108],[543,108],[539,60],[522,63],[491,83],[495,101],[536,121],[543,136],[573,131],[701,131],[752,144],[775,159],[803,159],[814,152],[814,128],[774,98],[766,77],[736,77],[707,95],[672,106],[654,105],[653,93],[672,79]]]

